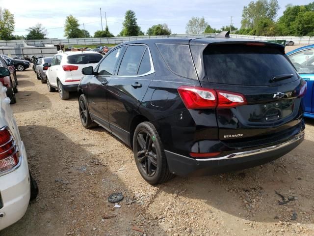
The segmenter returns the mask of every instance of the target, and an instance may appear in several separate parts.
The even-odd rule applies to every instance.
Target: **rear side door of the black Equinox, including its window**
[[[146,45],[127,46],[107,88],[110,129],[130,145],[129,125],[155,73]]]

